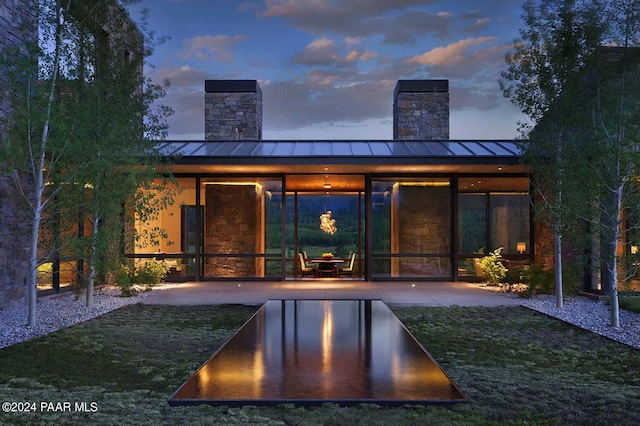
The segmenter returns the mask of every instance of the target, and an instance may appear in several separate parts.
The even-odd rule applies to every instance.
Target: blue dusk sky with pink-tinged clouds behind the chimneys
[[[168,36],[169,139],[204,138],[204,80],[258,80],[264,139],[391,139],[399,79],[448,79],[451,139],[513,139],[498,87],[522,26],[515,0],[144,0]],[[136,11],[132,17],[137,20]]]

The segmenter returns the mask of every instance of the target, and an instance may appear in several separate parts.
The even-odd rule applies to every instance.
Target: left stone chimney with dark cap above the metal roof
[[[256,80],[205,80],[204,138],[262,139],[262,90]]]

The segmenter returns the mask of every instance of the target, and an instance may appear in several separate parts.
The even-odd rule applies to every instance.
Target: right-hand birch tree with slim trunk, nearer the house
[[[591,9],[576,0],[527,1],[521,39],[508,55],[508,69],[500,86],[506,97],[527,116],[520,131],[529,140],[525,161],[533,166],[535,212],[555,240],[556,306],[563,307],[562,242],[571,228],[567,210],[581,205],[575,175],[567,173],[573,163],[575,101],[580,93],[580,75],[597,46],[598,23],[591,22]]]

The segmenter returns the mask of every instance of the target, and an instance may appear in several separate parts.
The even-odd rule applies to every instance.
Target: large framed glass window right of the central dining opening
[[[371,189],[372,277],[450,277],[449,179],[373,179]]]

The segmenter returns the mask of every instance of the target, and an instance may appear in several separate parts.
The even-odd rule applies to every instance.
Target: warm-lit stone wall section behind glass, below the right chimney
[[[391,251],[443,254],[442,257],[400,257],[391,262],[395,277],[446,277],[450,271],[450,188],[396,186],[392,194]]]

